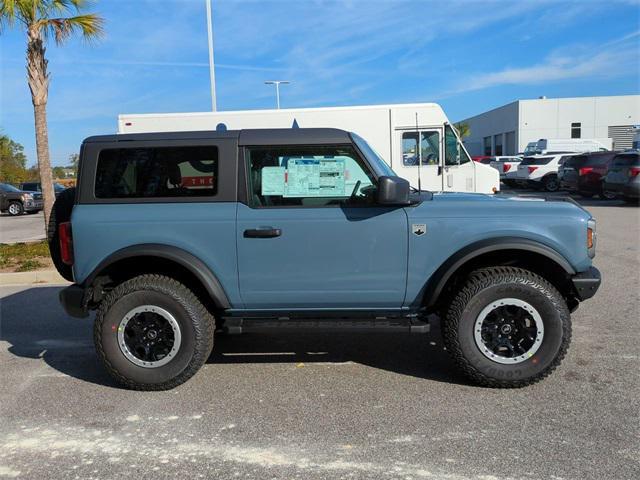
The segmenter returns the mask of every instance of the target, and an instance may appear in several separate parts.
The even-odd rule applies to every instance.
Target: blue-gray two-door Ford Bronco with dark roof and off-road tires
[[[596,224],[572,200],[418,192],[336,129],[87,138],[48,238],[74,282],[62,305],[96,310],[99,357],[139,390],[188,380],[214,331],[437,317],[471,381],[521,387],[558,366],[600,285]]]

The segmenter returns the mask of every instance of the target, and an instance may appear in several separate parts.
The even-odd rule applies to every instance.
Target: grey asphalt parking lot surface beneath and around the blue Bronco
[[[468,384],[436,324],[221,336],[185,385],[131,392],[59,287],[3,287],[0,477],[637,479],[640,210],[587,208],[603,285],[561,367],[518,390]]]

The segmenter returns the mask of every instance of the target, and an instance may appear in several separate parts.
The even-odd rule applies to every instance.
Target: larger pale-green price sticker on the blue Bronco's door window
[[[290,158],[284,197],[344,197],[344,180],[343,158]]]

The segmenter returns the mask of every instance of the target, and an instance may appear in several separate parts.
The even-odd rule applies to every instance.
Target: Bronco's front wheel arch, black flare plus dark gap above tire
[[[520,266],[538,273],[565,298],[573,297],[570,278],[576,271],[560,253],[535,240],[502,237],[472,243],[451,255],[425,284],[422,306],[433,310],[466,274],[477,268],[500,265]]]

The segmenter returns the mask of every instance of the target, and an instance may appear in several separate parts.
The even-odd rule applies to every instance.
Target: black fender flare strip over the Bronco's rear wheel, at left
[[[102,260],[87,276],[83,284],[85,286],[91,286],[100,273],[110,265],[120,260],[135,257],[159,257],[181,265],[202,283],[218,307],[223,309],[231,308],[231,303],[229,302],[226,292],[211,269],[191,253],[171,245],[143,243],[117,250]]]

